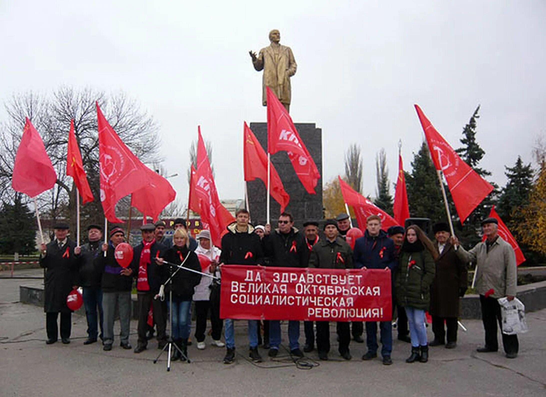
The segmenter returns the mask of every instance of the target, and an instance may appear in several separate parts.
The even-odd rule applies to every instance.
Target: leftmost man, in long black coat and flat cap
[[[61,340],[70,343],[72,330],[72,310],[67,306],[67,296],[78,288],[78,268],[80,247],[68,236],[68,225],[57,223],[54,226],[55,238],[47,245],[40,244],[40,267],[45,268],[44,311],[45,328],[48,334],[46,344],[58,339],[57,317],[61,313]]]

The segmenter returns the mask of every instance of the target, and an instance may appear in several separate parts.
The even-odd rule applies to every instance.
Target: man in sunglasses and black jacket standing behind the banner
[[[271,266],[275,267],[304,267],[305,250],[308,250],[304,237],[294,228],[292,214],[283,212],[278,217],[278,228],[264,237],[265,256],[269,257]],[[288,321],[288,340],[290,354],[295,357],[304,357],[300,350],[300,322]],[[276,357],[281,344],[281,322],[269,322],[269,357]]]

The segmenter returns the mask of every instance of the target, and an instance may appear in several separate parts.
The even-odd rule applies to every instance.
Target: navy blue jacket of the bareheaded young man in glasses
[[[384,269],[388,267],[391,276],[394,276],[398,266],[396,262],[394,242],[387,237],[383,230],[379,231],[377,237],[371,237],[366,230],[364,236],[357,238],[354,243],[353,252],[354,267],[361,269]]]

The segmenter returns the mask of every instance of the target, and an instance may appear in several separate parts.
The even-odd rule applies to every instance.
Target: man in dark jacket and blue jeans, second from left
[[[99,225],[87,226],[87,240],[81,246],[80,285],[84,289],[85,316],[87,317],[87,339],[84,345],[90,345],[97,341],[97,337],[103,339],[103,309],[102,290],[100,289],[100,273],[94,266],[94,261],[99,256],[100,240],[102,240],[102,227]],[[100,335],[98,328],[100,327]]]

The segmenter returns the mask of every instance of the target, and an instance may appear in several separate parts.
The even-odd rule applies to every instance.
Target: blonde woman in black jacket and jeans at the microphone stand
[[[179,228],[174,232],[173,243],[173,248],[169,248],[169,250],[165,252],[165,261],[177,265],[184,262],[184,267],[200,272],[201,265],[199,264],[199,259],[197,255],[195,255],[195,252],[189,250],[188,233],[183,228]],[[188,272],[188,270],[165,265],[163,264],[163,258],[157,258],[157,263],[162,267],[164,282],[174,274],[171,282],[168,282],[165,285],[165,294],[168,294],[171,289],[173,291],[173,305],[172,307],[169,307],[173,319],[171,322],[171,335],[173,336],[175,344],[187,357],[189,336],[188,324],[191,322],[189,310],[192,305],[194,288],[199,284],[199,281],[201,281],[201,275]],[[167,303],[170,306],[169,300]],[[173,360],[179,358],[180,352],[175,349]]]

